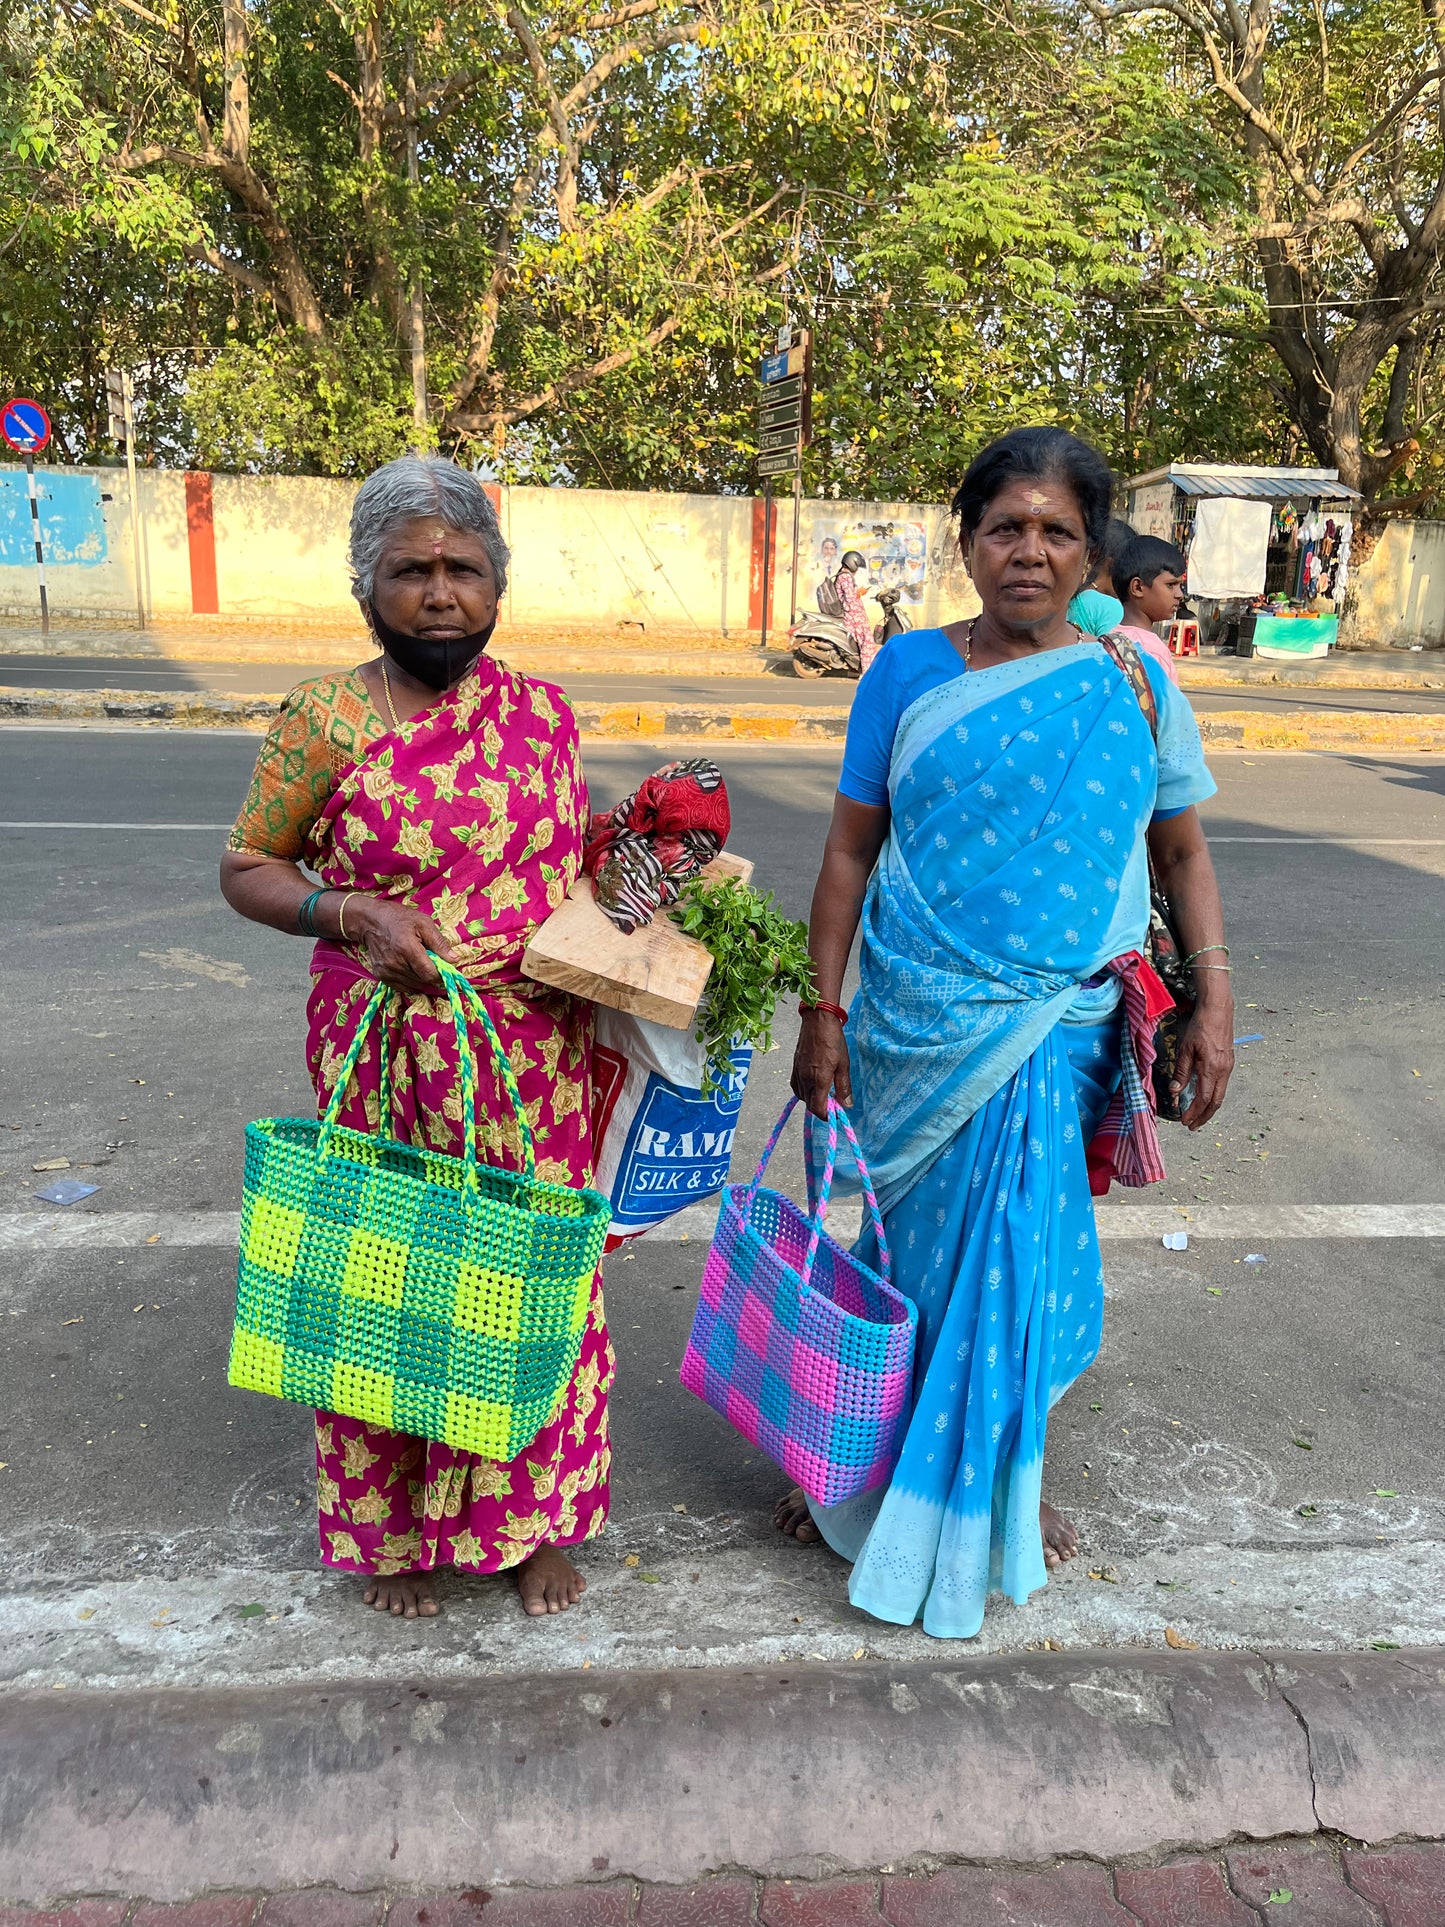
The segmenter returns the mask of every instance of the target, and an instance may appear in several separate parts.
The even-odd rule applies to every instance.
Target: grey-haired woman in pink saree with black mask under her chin
[[[391,1131],[460,1152],[457,1041],[437,954],[476,985],[497,1027],[538,1175],[584,1185],[590,1006],[526,981],[520,960],[580,873],[588,790],[561,692],[484,655],[507,561],[491,503],[451,462],[405,457],[370,476],[353,511],[351,567],[381,655],[285,700],[231,832],[222,890],[243,915],[318,938],[306,1050],[322,1108],[380,979],[403,992],[383,1039]],[[486,1039],[476,1041],[478,1141],[516,1170],[516,1118]],[[341,1122],[380,1122],[374,1041]],[[439,1567],[512,1571],[528,1613],[566,1611],[586,1580],[563,1547],[607,1520],[611,1384],[595,1281],[572,1382],[507,1465],[318,1412],[324,1563],[368,1574],[366,1603],[407,1619],[439,1611]]]

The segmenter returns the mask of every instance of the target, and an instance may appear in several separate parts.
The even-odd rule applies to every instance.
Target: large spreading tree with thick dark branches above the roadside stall
[[[1100,58],[1143,46],[1171,64],[1247,164],[1233,247],[1220,233],[1216,251],[1250,276],[1250,339],[1274,355],[1299,441],[1368,495],[1422,459],[1430,476],[1445,0],[1087,0],[1087,15],[1106,29]]]

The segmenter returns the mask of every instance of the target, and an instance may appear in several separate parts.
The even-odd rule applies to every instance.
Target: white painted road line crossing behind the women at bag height
[[[828,1231],[842,1243],[859,1233],[859,1206],[828,1212]],[[1106,1245],[1189,1231],[1191,1239],[1235,1239],[1254,1245],[1299,1237],[1445,1237],[1445,1204],[1102,1204],[1098,1237]],[[653,1243],[705,1245],[713,1237],[717,1204],[690,1204],[647,1233]],[[198,1212],[4,1212],[0,1251],[235,1251],[241,1214]]]

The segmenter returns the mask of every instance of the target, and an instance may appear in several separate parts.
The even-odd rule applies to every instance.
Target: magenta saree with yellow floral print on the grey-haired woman
[[[528,983],[520,964],[528,937],[580,873],[586,831],[588,790],[566,700],[482,657],[430,709],[360,750],[306,838],[306,863],[324,884],[410,904],[447,933],[516,1073],[538,1175],[578,1185],[591,1175],[591,1014]],[[316,946],[306,1054],[322,1108],[374,989],[360,946]],[[476,1044],[478,1143],[484,1158],[516,1170],[516,1120],[486,1037]],[[385,1048],[393,1135],[460,1154],[447,998],[399,998]],[[341,1122],[356,1129],[380,1122],[385,1129],[374,1041],[362,1050]],[[601,1532],[613,1368],[597,1280],[572,1382],[532,1445],[509,1465],[318,1412],[326,1565],[376,1574],[443,1565],[497,1572],[539,1545],[570,1545]]]

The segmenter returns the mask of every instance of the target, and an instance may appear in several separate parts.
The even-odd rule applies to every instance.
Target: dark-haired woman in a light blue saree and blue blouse
[[[1102,1335],[1090,1191],[1164,1175],[1150,858],[1196,987],[1173,1071],[1191,1129],[1233,1068],[1198,728],[1158,665],[1065,617],[1110,486],[1056,428],[973,461],[954,509],[983,615],[894,638],[859,684],[813,896],[794,1091],[854,1114],[917,1351],[890,1484],[836,1507],[794,1491],[778,1524],[852,1561],[855,1605],[944,1638],[1079,1549],[1042,1501],[1044,1426]]]

